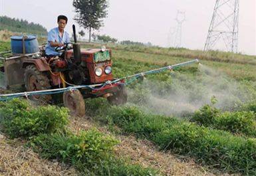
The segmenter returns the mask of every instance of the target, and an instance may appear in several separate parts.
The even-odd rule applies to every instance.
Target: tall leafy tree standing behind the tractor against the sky
[[[107,0],[74,0],[74,11],[76,13],[74,20],[84,29],[89,31],[89,42],[92,29],[98,30],[104,25],[103,18],[107,13]]]

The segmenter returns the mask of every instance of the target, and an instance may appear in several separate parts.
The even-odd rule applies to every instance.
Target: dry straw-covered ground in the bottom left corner
[[[0,175],[77,175],[75,169],[41,159],[25,143],[9,140],[0,133]]]

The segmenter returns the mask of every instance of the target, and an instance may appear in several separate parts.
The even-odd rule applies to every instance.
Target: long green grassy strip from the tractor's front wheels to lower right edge
[[[198,163],[222,171],[256,174],[255,139],[148,114],[136,106],[106,108],[104,100],[91,100],[86,102],[86,107],[88,114],[96,116],[96,120],[118,126],[122,133],[149,139],[164,151],[194,157]]]

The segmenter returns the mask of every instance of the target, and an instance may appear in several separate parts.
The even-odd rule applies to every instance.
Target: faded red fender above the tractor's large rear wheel
[[[39,72],[49,71],[49,65],[45,58],[25,58],[23,60],[22,68],[26,68],[28,65],[34,64]]]

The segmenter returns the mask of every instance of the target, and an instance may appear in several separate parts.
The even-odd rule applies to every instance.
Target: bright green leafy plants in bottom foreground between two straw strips
[[[153,169],[116,159],[113,150],[116,144],[118,140],[95,129],[77,135],[41,134],[31,141],[42,157],[72,163],[86,175],[156,175]]]

